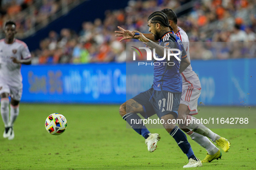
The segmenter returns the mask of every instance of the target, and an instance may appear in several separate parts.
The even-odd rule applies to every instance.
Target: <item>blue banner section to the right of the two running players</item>
[[[256,105],[255,59],[200,60],[191,63],[201,82],[198,104]]]

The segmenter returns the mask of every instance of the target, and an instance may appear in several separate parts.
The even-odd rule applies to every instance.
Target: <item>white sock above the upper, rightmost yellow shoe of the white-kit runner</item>
[[[198,120],[198,119],[193,117],[193,116],[188,115],[187,116],[187,121],[190,124],[188,124],[186,127],[188,129],[192,129],[193,132],[196,132],[200,135],[203,135],[203,136],[206,136],[206,137],[210,138],[213,142],[215,142],[217,139],[220,139],[219,135],[212,132],[210,129],[205,127],[202,123],[196,123],[197,122],[196,120]],[[200,122],[200,121],[198,121],[198,122]]]

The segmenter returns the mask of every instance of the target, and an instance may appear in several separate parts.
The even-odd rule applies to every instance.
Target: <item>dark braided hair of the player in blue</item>
[[[173,30],[172,27],[169,25],[168,16],[161,11],[156,11],[152,13],[148,18],[148,21],[149,20],[152,21],[151,23],[160,23],[161,25],[169,27],[171,28],[171,30]]]

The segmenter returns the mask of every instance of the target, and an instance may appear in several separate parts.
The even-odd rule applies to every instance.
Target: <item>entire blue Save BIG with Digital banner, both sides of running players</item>
[[[201,81],[198,104],[256,105],[256,59],[191,63]],[[22,101],[121,104],[151,87],[152,69],[138,63],[22,66],[28,87]]]

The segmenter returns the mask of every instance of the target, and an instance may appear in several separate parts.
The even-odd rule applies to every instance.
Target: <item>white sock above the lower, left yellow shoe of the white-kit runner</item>
[[[197,142],[201,147],[205,148],[208,154],[214,155],[219,149],[205,136],[195,133],[193,131],[186,132],[192,140]]]

